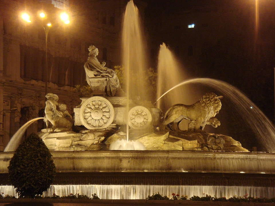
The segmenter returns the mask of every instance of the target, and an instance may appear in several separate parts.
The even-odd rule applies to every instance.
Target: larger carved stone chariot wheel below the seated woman
[[[87,129],[107,128],[113,123],[115,110],[107,99],[95,96],[87,99],[80,107],[79,117]]]

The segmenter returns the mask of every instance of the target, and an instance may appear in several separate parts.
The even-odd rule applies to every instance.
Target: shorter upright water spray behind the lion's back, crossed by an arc
[[[167,88],[171,88],[184,79],[189,77],[185,74],[182,66],[176,61],[172,51],[166,46],[165,43],[160,45],[158,54],[158,85],[157,97],[163,94]],[[157,101],[157,108],[167,110],[170,106],[178,103],[192,104],[195,98],[192,91],[192,86],[184,86],[170,92],[160,101]]]

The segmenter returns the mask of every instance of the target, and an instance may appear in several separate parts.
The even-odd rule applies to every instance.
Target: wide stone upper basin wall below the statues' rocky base
[[[275,153],[211,151],[51,151],[57,172],[191,172],[275,174]],[[14,152],[0,152],[8,173]]]

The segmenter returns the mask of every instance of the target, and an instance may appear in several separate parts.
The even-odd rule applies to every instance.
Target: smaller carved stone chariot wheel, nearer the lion
[[[129,126],[133,129],[147,128],[152,122],[152,114],[143,106],[135,106],[129,111]]]

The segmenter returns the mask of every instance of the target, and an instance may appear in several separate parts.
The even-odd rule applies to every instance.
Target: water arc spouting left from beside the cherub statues
[[[13,134],[12,138],[9,140],[8,145],[6,146],[4,152],[14,152],[17,147],[19,146],[21,139],[23,137],[23,134],[27,130],[28,126],[30,126],[32,123],[34,123],[37,120],[44,119],[43,117],[34,118],[28,122],[26,122],[23,126]]]

